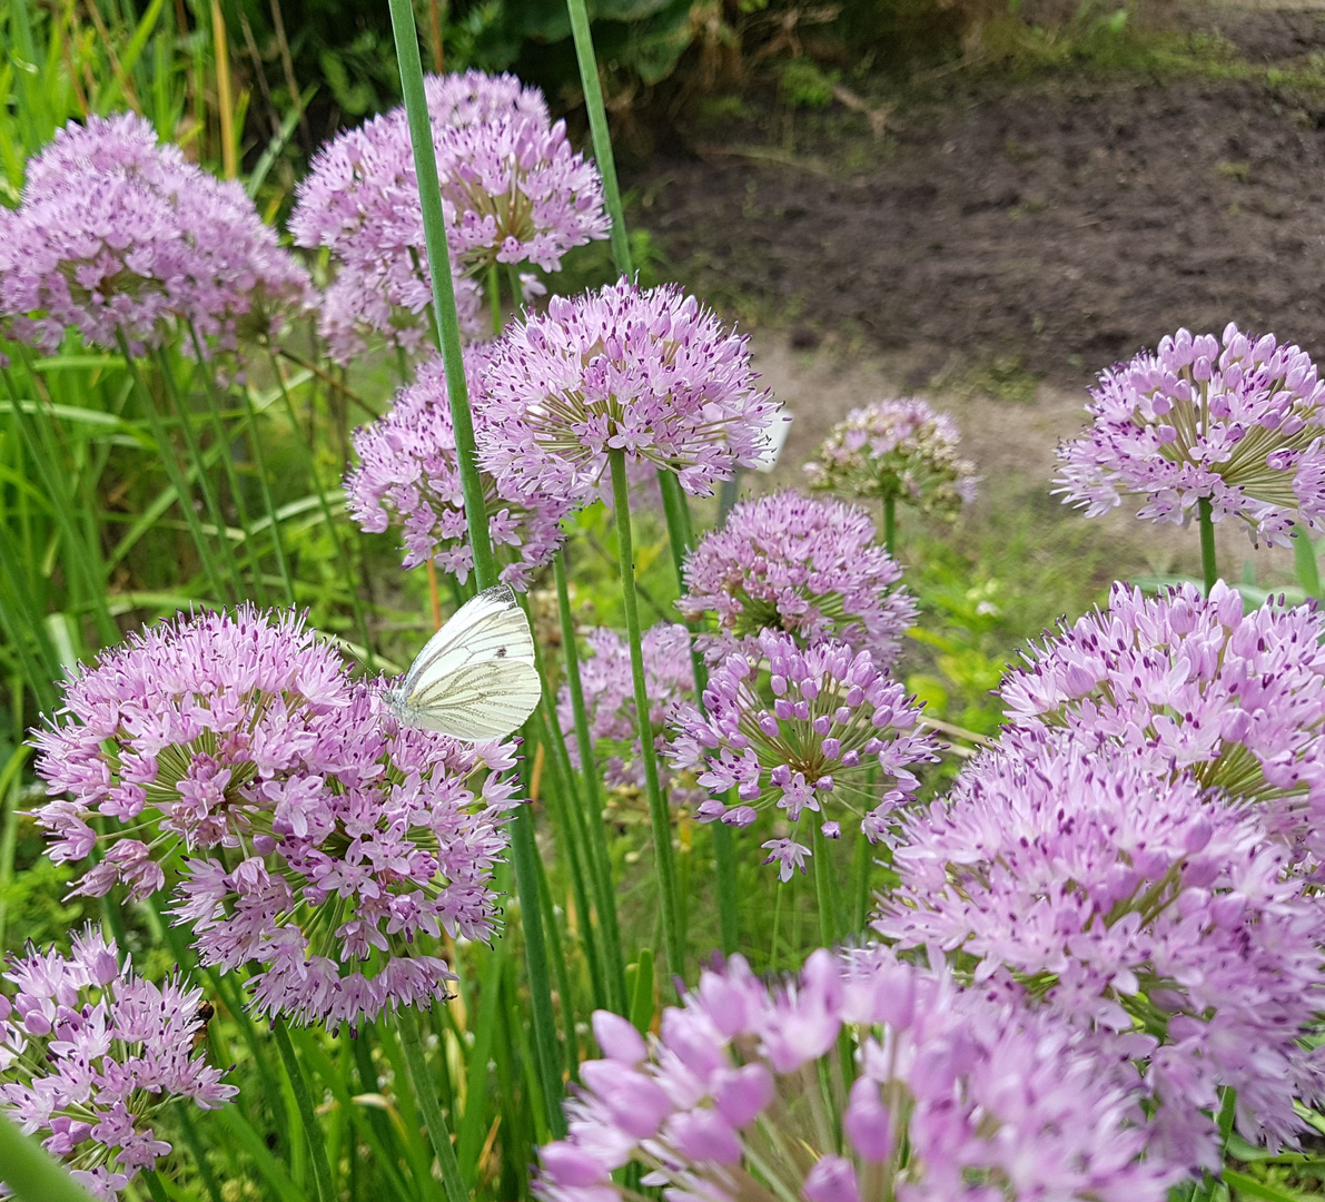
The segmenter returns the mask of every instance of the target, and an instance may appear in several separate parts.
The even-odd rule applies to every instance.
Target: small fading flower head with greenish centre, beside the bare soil
[[[979,482],[958,441],[953,419],[918,398],[874,400],[828,431],[806,474],[812,489],[905,501],[951,519]]]

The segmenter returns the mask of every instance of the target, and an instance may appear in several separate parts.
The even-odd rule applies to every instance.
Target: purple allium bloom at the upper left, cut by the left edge
[[[60,130],[29,164],[0,237],[0,314],[46,351],[76,327],[110,349],[123,331],[142,353],[178,322],[193,323],[203,354],[233,350],[310,298],[307,273],[242,187],[158,146],[127,113]]]

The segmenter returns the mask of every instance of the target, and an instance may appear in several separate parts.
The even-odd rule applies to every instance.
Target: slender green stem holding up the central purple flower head
[[[649,802],[653,824],[653,846],[657,863],[662,946],[666,967],[672,977],[685,975],[685,956],[681,949],[676,909],[676,867],[672,861],[672,816],[659,785],[657,751],[653,747],[653,724],[649,721],[649,689],[644,680],[644,653],[641,651],[640,607],[635,594],[635,549],[631,538],[631,484],[625,476],[625,452],[613,448],[607,452],[612,468],[612,508],[616,518],[616,555],[621,574],[621,603],[625,608],[625,636],[631,644],[631,676],[635,679],[635,720],[640,736],[640,758],[644,763],[644,792]]]

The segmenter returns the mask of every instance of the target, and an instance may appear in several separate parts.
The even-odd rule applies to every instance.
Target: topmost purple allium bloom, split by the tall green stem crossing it
[[[607,237],[602,183],[564,125],[550,122],[542,94],[513,76],[432,76],[425,87],[461,325],[482,337],[473,274],[497,261],[556,270],[571,246]],[[339,359],[370,333],[409,350],[425,341],[432,288],[403,107],[318,152],[290,229],[339,264],[322,322]],[[522,285],[526,298],[542,292],[534,276]]]

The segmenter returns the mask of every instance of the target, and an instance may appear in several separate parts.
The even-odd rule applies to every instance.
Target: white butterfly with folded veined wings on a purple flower
[[[480,742],[510,734],[541,696],[529,619],[494,584],[452,615],[384,700],[405,726]]]

